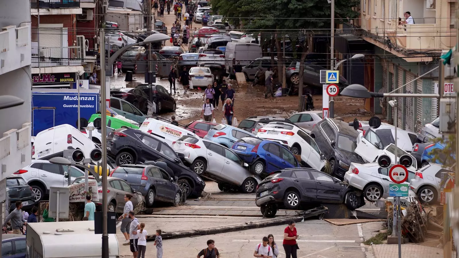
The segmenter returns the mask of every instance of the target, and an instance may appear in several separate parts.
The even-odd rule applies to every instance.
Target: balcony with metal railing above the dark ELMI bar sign
[[[40,47],[38,42],[32,42],[32,67],[79,66],[81,59],[77,58],[77,46],[70,47]]]

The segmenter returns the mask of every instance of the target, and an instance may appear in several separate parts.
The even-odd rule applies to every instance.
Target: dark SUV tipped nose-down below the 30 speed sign
[[[351,162],[365,163],[362,157],[354,152],[358,131],[349,126],[349,123],[325,118],[313,126],[310,135],[325,154],[325,158],[330,161],[332,174],[337,178],[344,178]]]

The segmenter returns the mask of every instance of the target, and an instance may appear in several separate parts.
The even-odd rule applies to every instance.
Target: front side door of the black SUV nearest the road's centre
[[[315,170],[309,170],[316,183],[317,200],[319,202],[342,202],[340,192],[341,184],[327,174]]]

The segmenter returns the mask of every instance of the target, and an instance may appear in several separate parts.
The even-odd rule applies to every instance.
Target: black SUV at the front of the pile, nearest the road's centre
[[[344,203],[355,210],[364,206],[362,191],[313,168],[289,168],[269,174],[257,185],[255,203],[265,217],[278,209],[299,210],[322,203]]]

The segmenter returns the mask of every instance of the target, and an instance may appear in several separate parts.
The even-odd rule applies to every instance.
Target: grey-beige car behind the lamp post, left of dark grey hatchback
[[[89,179],[94,179],[94,177],[89,177]],[[77,177],[73,181],[74,184],[79,184],[84,182],[84,176]],[[102,207],[102,181],[97,183],[99,189],[99,201],[95,202],[96,208]],[[132,187],[122,179],[116,177],[107,177],[107,202],[108,202],[108,211],[123,213],[124,212],[124,195],[132,195],[131,202],[132,205],[137,206],[140,202],[144,202],[145,198],[140,192],[135,191]]]

